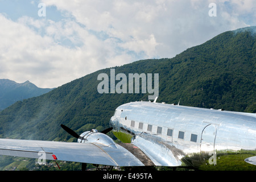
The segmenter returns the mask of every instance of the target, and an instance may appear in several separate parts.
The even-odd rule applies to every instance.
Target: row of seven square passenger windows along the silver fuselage
[[[131,121],[131,127],[135,127],[135,121]],[[139,129],[143,129],[143,123],[139,123]],[[152,132],[152,125],[147,125],[147,131]],[[162,134],[162,127],[158,126],[158,129],[156,130],[157,134]],[[173,130],[172,129],[167,129],[167,136],[172,137]],[[184,139],[184,131],[179,131],[178,138],[179,139]],[[197,135],[196,134],[191,134],[191,142],[196,142],[197,141]]]

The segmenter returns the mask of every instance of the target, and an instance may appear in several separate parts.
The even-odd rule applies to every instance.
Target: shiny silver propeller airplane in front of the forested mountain
[[[157,98],[156,98],[157,99]],[[256,170],[256,114],[151,101],[118,106],[110,128],[77,142],[0,139],[0,155],[106,166]],[[106,133],[112,131],[121,143]]]

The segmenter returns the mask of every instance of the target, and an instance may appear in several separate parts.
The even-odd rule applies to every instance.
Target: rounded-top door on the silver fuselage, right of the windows
[[[207,125],[201,136],[201,156],[207,164],[216,165],[216,151],[214,151],[215,137],[216,126]]]

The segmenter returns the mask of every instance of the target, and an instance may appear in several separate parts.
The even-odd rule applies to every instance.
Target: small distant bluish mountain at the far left
[[[40,96],[52,89],[38,88],[30,81],[18,84],[9,79],[0,79],[0,110],[14,104],[16,101]]]

